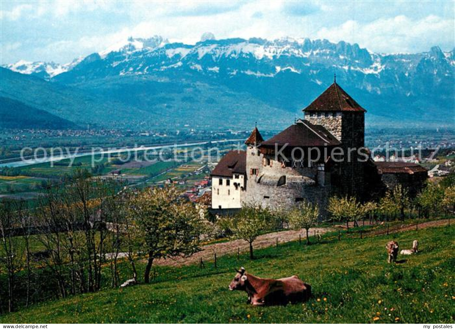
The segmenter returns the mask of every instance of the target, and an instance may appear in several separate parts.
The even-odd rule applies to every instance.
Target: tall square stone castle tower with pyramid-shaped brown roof
[[[361,198],[364,162],[359,161],[358,150],[364,147],[365,109],[334,81],[303,112],[305,120],[322,125],[341,142],[344,161],[338,162],[331,174],[335,191]]]

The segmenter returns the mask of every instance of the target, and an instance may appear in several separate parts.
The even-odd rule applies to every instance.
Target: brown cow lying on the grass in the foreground
[[[263,279],[247,273],[245,268],[229,284],[229,290],[243,290],[248,294],[248,304],[285,305],[304,302],[311,297],[311,286],[293,275],[289,278]]]

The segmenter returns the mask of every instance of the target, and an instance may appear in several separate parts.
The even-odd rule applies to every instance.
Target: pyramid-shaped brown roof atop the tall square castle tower
[[[336,81],[332,83],[318,98],[303,109],[312,111],[354,111],[366,112],[354,99],[341,88]]]

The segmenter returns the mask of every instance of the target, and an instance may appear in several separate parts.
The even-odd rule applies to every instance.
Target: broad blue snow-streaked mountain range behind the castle
[[[438,46],[416,54],[378,54],[344,41],[210,35],[187,45],[154,36],[128,38],[53,70],[47,73],[51,82],[181,121],[225,113],[254,122],[260,120],[250,118],[258,106],[294,117],[333,82],[334,73],[369,110],[367,123],[454,118],[455,49],[443,52]]]

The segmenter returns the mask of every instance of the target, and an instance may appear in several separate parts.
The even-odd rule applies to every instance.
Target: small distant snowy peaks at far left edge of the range
[[[53,76],[71,70],[74,66],[79,64],[84,57],[76,58],[67,64],[56,64],[54,62],[30,62],[20,60],[14,64],[1,65],[10,69],[11,71],[19,72],[22,74],[31,74],[39,76],[42,79],[49,80]]]

